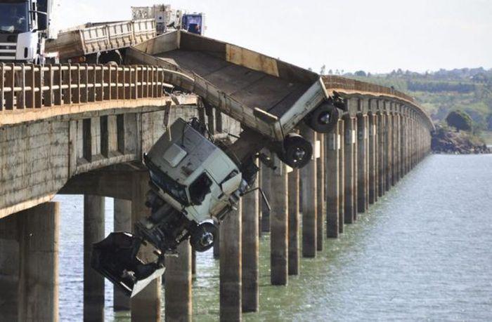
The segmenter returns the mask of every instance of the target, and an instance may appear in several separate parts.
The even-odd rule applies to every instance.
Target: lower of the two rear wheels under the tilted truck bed
[[[304,137],[296,133],[285,136],[283,151],[278,152],[278,159],[291,168],[306,166],[313,156],[313,146]]]

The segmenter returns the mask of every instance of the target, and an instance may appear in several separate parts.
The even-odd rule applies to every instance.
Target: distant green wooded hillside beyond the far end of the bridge
[[[441,69],[425,74],[399,69],[389,74],[358,71],[344,76],[408,93],[436,123],[442,123],[450,112],[466,112],[473,120],[473,133],[492,144],[492,69]]]

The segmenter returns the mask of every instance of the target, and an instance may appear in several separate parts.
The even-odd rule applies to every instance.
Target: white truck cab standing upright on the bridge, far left
[[[52,0],[0,0],[0,62],[56,62],[45,51],[54,38]]]

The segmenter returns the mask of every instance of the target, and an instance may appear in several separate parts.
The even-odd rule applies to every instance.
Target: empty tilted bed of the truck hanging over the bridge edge
[[[183,31],[131,48],[127,62],[157,64],[179,72],[167,81],[192,90],[243,125],[276,140],[282,140],[328,98],[316,73]],[[179,80],[181,74],[188,77],[184,83]]]

